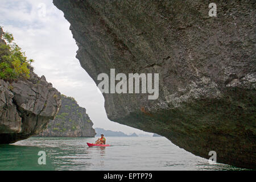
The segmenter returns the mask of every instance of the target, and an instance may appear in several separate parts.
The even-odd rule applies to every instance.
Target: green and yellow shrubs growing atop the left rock
[[[34,60],[28,60],[22,49],[13,42],[13,34],[5,32],[1,39],[7,43],[0,43],[0,78],[6,81],[14,81],[17,78],[30,77],[30,64]]]

